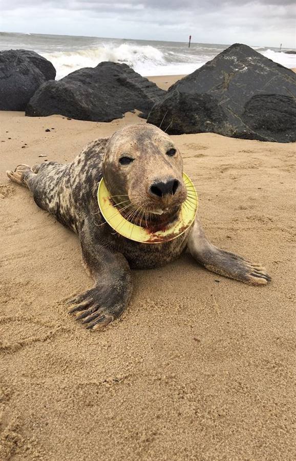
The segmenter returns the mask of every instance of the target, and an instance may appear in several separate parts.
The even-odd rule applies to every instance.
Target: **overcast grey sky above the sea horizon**
[[[5,32],[295,48],[293,0],[0,0]]]

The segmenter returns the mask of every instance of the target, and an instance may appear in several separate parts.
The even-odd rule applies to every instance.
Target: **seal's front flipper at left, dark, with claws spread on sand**
[[[70,313],[87,328],[102,328],[117,319],[130,301],[131,269],[123,255],[99,244],[89,227],[79,237],[82,258],[95,285],[69,302],[74,305]]]

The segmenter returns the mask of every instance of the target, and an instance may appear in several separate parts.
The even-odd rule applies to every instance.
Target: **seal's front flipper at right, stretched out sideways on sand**
[[[222,276],[249,285],[265,285],[271,280],[260,264],[252,264],[241,256],[225,252],[210,243],[197,219],[188,238],[187,248],[200,264]]]

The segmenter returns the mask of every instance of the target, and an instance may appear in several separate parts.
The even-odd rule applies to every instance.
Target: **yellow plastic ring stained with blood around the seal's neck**
[[[98,204],[101,214],[114,231],[135,242],[164,243],[173,240],[191,226],[195,220],[198,208],[198,196],[191,179],[183,173],[183,180],[187,189],[187,198],[181,205],[177,220],[167,229],[164,228],[161,231],[152,232],[145,227],[138,226],[126,220],[120,213],[120,210],[114,206],[103,178],[100,180],[98,186]]]

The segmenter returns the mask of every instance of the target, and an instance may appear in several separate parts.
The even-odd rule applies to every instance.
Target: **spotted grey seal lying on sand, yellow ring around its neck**
[[[270,281],[260,264],[213,245],[195,217],[196,210],[185,229],[178,227],[183,204],[196,206],[195,191],[184,180],[177,146],[154,125],[128,125],[110,138],[95,140],[72,163],[18,165],[7,175],[28,187],[40,208],[78,234],[94,286],[70,301],[70,312],[87,328],[102,328],[121,315],[132,294],[132,268],[167,264],[185,250],[217,274],[250,285]],[[102,178],[114,212],[152,239],[157,235],[155,241],[128,238],[119,228],[114,230],[111,216],[111,221],[105,220],[98,204]]]

